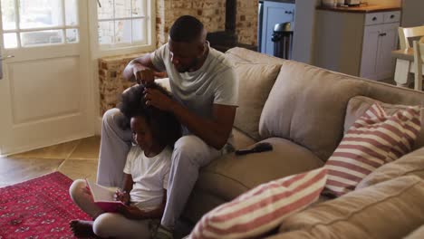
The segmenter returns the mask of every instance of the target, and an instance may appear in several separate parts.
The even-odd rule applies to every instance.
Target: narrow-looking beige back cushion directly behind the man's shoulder
[[[259,140],[259,119],[280,65],[237,62],[238,108],[234,126]]]

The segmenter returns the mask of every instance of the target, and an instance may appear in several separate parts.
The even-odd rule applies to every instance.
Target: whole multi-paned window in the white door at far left
[[[6,49],[79,42],[78,0],[1,0]]]

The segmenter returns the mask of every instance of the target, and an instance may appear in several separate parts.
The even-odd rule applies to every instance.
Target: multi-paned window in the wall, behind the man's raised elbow
[[[101,50],[151,44],[151,0],[99,0],[98,43]]]

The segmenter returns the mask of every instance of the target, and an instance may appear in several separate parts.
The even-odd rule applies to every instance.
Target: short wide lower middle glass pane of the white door
[[[22,46],[63,43],[63,30],[21,33]]]

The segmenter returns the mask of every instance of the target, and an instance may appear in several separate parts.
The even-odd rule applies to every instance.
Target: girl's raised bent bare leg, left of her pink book
[[[92,195],[87,189],[87,183],[85,180],[75,180],[69,187],[69,194],[71,195],[72,201],[79,206],[82,211],[92,216],[93,219],[103,213],[101,208],[96,206],[92,201]]]

